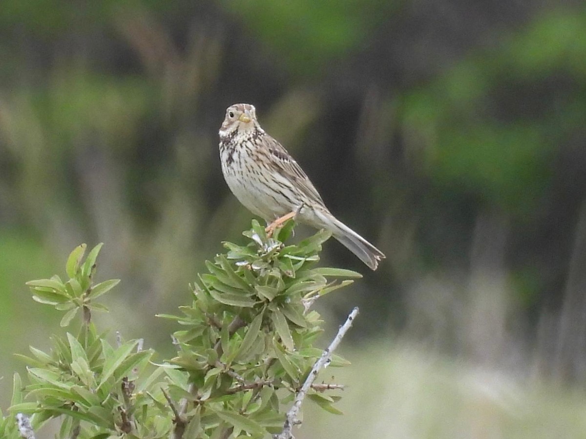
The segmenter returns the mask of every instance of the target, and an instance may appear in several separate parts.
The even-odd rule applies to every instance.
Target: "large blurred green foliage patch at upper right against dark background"
[[[505,50],[499,46],[459,61],[404,97],[405,127],[424,143],[424,169],[437,184],[474,193],[515,215],[537,208],[560,145],[586,120],[585,23],[584,13],[546,15],[525,32],[503,37]],[[575,88],[556,101],[539,102],[546,98],[539,81],[554,76]],[[520,102],[515,108],[524,94],[536,105]],[[506,119],[503,105],[512,107]]]

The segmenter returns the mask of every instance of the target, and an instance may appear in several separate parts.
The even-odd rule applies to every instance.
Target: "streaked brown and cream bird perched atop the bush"
[[[220,159],[230,190],[244,207],[271,223],[267,231],[295,217],[331,231],[373,270],[384,258],[383,252],[330,213],[293,157],[258,124],[254,105],[234,104],[226,110],[220,128]]]

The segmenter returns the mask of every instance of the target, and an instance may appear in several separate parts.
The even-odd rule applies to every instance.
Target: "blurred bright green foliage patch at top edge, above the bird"
[[[402,1],[301,0],[220,2],[268,47],[283,68],[294,74],[323,74],[332,61],[363,46]],[[254,43],[253,43],[254,44]],[[254,50],[254,47],[250,47]]]

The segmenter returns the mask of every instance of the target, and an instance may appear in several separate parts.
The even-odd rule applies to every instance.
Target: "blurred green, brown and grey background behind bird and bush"
[[[325,245],[364,278],[318,304],[323,345],[361,314],[324,377],[346,414],[306,406],[300,439],[586,437],[583,6],[2,0],[0,406],[62,317],[24,283],[81,242],[122,279],[98,325],[173,354],[154,314],[250,227],[217,147],[249,102],[387,255]]]

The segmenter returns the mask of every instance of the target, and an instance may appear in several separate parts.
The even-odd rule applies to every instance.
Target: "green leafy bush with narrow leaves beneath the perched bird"
[[[321,367],[347,362],[332,355],[334,344],[314,346],[322,320],[311,306],[360,275],[316,266],[328,232],[285,245],[293,227],[289,221],[268,237],[253,221],[246,245],[224,242],[228,252],[206,261],[208,273],[191,286],[192,303],[180,315],[159,315],[180,325],[172,337],[178,353],[162,364],[142,340],[117,334],[113,343],[98,331],[93,311],[107,308],[97,299],[119,280],[94,284],[101,244],[85,260],[86,245],[78,246],[66,282],[56,275],[27,283],[35,301],[64,311],[62,327],[79,316],[79,328],[53,336],[49,353],[30,347],[32,356],[18,355],[28,384],[15,373],[0,437],[32,438],[57,417],[61,438],[292,437],[303,397],[340,413],[330,391],[343,386],[313,382]]]

